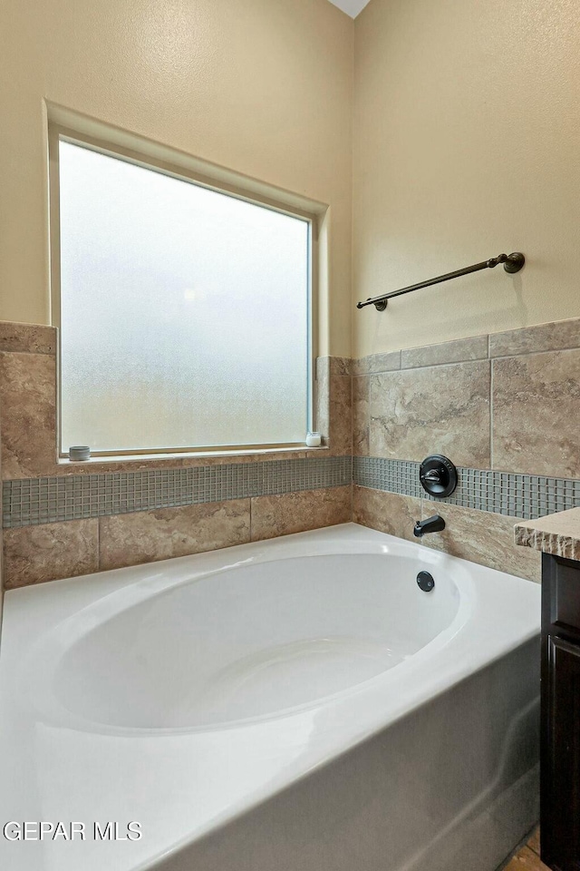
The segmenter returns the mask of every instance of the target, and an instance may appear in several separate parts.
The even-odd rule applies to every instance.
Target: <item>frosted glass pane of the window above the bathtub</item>
[[[304,443],[309,230],[61,140],[62,448]]]

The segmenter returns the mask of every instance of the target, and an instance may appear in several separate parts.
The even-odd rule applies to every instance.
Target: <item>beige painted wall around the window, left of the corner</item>
[[[0,6],[0,319],[49,323],[43,100],[328,203],[350,355],[353,22],[327,0]]]

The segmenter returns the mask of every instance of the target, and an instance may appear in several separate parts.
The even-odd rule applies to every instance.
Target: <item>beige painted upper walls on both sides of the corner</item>
[[[51,0],[0,9],[0,318],[48,323],[45,107],[59,103],[329,203],[353,356],[580,314],[574,0]],[[354,35],[354,282],[351,156]],[[506,250],[503,269],[353,301]],[[352,318],[352,320],[351,320]]]

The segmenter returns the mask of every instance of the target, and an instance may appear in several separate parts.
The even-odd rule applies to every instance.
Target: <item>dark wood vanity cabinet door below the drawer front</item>
[[[548,635],[544,656],[542,861],[580,871],[580,645]]]

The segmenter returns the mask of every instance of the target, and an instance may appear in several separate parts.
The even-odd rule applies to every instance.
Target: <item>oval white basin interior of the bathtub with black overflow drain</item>
[[[57,627],[52,697],[89,722],[211,728],[274,716],[400,664],[459,610],[449,573],[399,554],[334,553],[241,565],[126,606],[114,594]],[[70,630],[70,631],[69,631]]]

